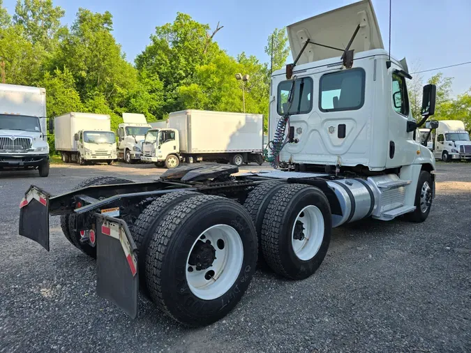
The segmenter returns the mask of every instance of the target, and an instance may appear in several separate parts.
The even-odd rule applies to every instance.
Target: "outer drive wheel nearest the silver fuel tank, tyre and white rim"
[[[263,219],[264,260],[281,276],[308,278],[327,254],[331,228],[329,202],[321,190],[302,184],[283,186],[271,198]]]

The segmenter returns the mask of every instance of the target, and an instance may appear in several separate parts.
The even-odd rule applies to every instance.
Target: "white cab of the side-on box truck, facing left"
[[[150,129],[142,143],[141,159],[157,167],[177,167],[179,158],[179,132],[174,128]]]

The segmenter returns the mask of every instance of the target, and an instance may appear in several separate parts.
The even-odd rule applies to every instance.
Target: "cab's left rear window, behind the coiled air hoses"
[[[291,87],[294,82],[294,95],[291,102],[288,103]],[[302,77],[295,81],[288,80],[278,84],[277,111],[279,115],[307,114],[313,109],[313,79],[311,77]],[[289,112],[288,112],[289,110]]]

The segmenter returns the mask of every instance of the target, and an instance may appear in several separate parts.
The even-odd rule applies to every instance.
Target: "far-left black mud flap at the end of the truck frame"
[[[36,241],[49,251],[49,199],[50,195],[31,185],[20,203],[20,228],[22,236]]]

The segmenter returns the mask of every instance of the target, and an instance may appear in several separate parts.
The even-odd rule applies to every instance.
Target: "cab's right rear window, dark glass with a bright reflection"
[[[320,77],[321,112],[358,110],[365,100],[365,71],[361,68],[326,73]]]

